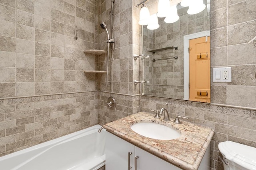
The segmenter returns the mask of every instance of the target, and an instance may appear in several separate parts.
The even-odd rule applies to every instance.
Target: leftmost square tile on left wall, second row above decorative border
[[[2,73],[0,82],[15,82],[15,68],[0,67],[0,72]]]

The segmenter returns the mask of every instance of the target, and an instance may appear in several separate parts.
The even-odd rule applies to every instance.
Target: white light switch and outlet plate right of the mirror
[[[212,82],[231,82],[231,67],[212,68]]]

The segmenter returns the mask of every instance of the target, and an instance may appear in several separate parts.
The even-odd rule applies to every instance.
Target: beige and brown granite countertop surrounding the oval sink
[[[154,118],[154,113],[139,112],[104,125],[104,129],[160,158],[185,170],[197,170],[204,153],[210,145],[214,131],[210,127],[195,125],[181,119],[181,124],[173,120]],[[154,122],[180,131],[181,136],[172,140],[157,140],[135,133],[130,126],[134,123]]]

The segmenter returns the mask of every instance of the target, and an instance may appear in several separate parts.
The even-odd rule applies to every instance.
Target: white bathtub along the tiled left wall
[[[0,157],[1,170],[97,170],[105,164],[100,125]]]

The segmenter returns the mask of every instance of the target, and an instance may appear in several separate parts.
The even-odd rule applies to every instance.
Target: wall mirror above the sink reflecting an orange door
[[[178,4],[178,21],[142,26],[143,54],[150,56],[142,59],[142,95],[210,103],[210,2],[204,4],[194,15]]]

